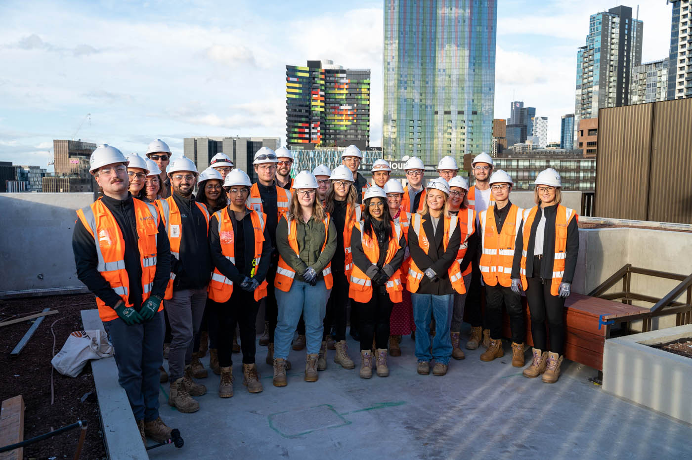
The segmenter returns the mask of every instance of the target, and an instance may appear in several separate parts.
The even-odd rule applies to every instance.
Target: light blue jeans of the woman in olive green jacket
[[[323,321],[331,289],[320,279],[315,286],[293,279],[289,292],[275,289],[279,307],[276,331],[274,332],[274,358],[288,358],[295,327],[302,313],[305,322],[307,352],[317,354],[322,345]],[[451,348],[450,348],[451,353]]]

